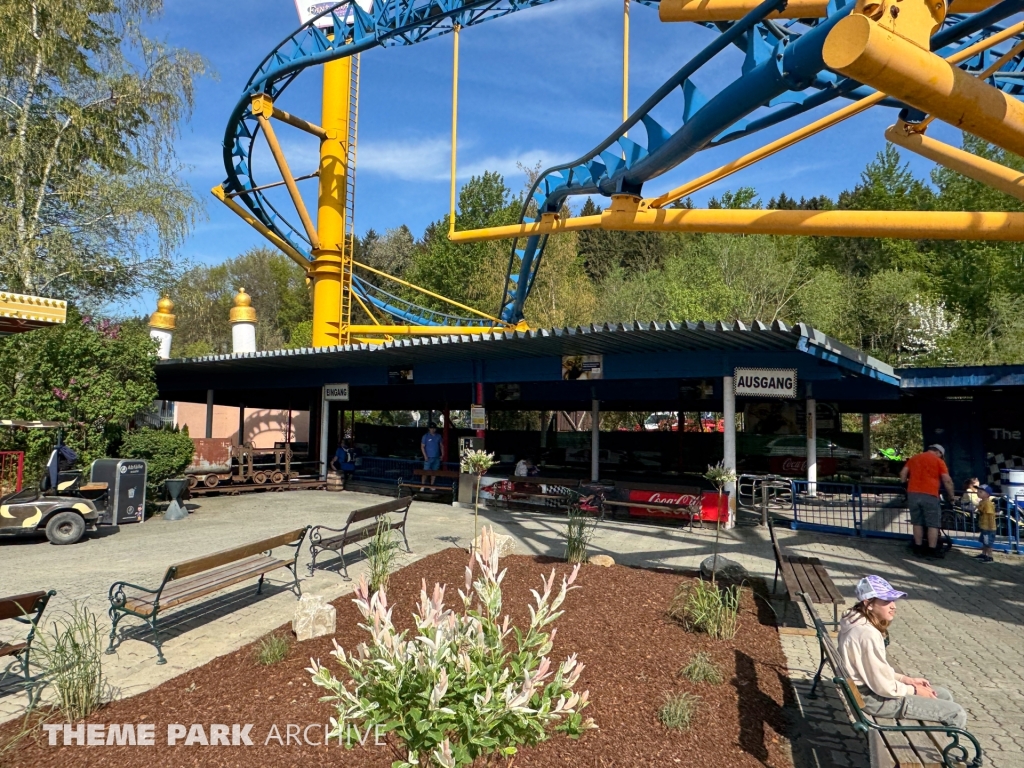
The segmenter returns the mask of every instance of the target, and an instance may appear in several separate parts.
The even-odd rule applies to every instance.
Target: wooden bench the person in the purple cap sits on
[[[825,665],[833,671],[831,682],[839,692],[847,716],[858,733],[867,734],[867,746],[871,768],[980,768],[982,750],[978,739],[970,731],[951,725],[924,720],[890,720],[877,718],[864,712],[864,699],[854,684],[849,670],[843,664],[831,636],[814,609],[810,596],[801,593],[801,600],[814,623],[818,644],[821,648],[821,664],[814,676],[810,697],[817,696],[818,683]],[[895,668],[894,668],[895,669]],[[898,671],[898,670],[897,670]],[[974,759],[969,762],[970,750],[963,741],[969,741],[974,749]]]

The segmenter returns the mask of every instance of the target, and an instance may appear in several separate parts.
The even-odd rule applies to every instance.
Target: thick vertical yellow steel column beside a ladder
[[[345,232],[350,88],[348,57],[324,65],[324,113],[321,125],[319,195],[316,230],[321,247],[313,251],[313,347],[348,343],[348,293],[352,288],[352,254]]]

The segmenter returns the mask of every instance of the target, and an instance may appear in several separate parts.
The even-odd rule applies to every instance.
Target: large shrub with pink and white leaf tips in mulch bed
[[[577,737],[595,728],[581,714],[588,691],[572,690],[583,665],[574,653],[557,667],[547,655],[579,570],[562,577],[557,590],[554,570],[542,579],[543,590],[531,590],[529,627],[512,627],[501,616],[506,571],[499,571],[494,531],[484,527],[466,566],[465,591],[459,590],[462,609],[444,604],[441,585],[428,594],[424,581],[412,637],[395,631],[386,593],[371,595],[360,580],[354,602],[370,639],[354,653],[337,643],[332,652],[351,682],[312,659],[308,670],[329,691],[322,700],[336,702],[332,736],[352,726],[375,729],[394,752],[394,768],[456,768],[505,762],[553,729]]]

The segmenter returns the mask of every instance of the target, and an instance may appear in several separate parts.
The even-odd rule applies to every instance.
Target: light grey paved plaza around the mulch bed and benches
[[[48,611],[52,620],[78,601],[104,616],[111,583],[126,580],[157,586],[167,566],[201,554],[227,549],[306,524],[340,527],[347,513],[380,501],[362,494],[292,492],[200,500],[188,520],[169,523],[155,518],[125,526],[116,534],[92,538],[73,547],[45,541],[3,542],[4,567],[0,594],[56,589]],[[561,556],[564,517],[539,512],[481,511],[498,532],[513,536],[516,552]],[[996,555],[996,562],[979,563],[973,553],[953,552],[944,560],[911,559],[906,548],[883,540],[794,532],[779,529],[784,548],[794,554],[819,557],[852,604],[853,587],[866,572],[878,572],[909,593],[900,602],[889,652],[905,671],[948,687],[969,713],[969,729],[982,742],[986,766],[1024,766],[1024,561]],[[416,502],[409,515],[411,561],[472,538],[472,512],[442,504]],[[714,529],[668,528],[605,521],[592,551],[617,562],[639,566],[695,568],[714,543]],[[305,548],[304,548],[305,549]],[[275,553],[283,555],[285,549]],[[768,580],[774,572],[767,531],[740,526],[722,532],[724,554],[743,564],[753,575]],[[1024,560],[1022,558],[1021,560]],[[308,575],[307,551],[299,558],[305,594],[333,600],[351,591],[352,583],[337,572],[336,560]],[[364,564],[350,568],[358,577]],[[121,644],[117,655],[104,656],[111,682],[121,695],[152,688],[211,658],[228,653],[288,623],[295,608],[287,571],[267,577],[264,594],[245,583],[167,614],[164,652],[168,664],[156,665],[156,651],[141,623]],[[803,766],[866,766],[862,736],[850,728],[831,687],[815,700],[807,697],[809,679],[817,668],[817,643],[800,634],[806,626],[797,606],[776,601],[784,612],[781,638],[805,721],[796,729],[795,758]],[[109,627],[109,625],[106,625]],[[7,632],[0,626],[0,632]],[[6,635],[0,635],[5,637]],[[0,721],[16,715],[24,694],[0,696]]]

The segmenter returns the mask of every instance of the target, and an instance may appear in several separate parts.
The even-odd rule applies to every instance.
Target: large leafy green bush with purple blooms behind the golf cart
[[[0,418],[62,425],[83,466],[110,455],[131,420],[157,398],[156,344],[141,323],[82,317],[31,334],[0,338]],[[53,436],[18,435],[39,469]]]

